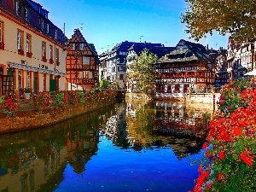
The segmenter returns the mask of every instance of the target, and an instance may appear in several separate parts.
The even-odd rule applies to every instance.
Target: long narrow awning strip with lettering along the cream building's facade
[[[30,72],[39,72],[39,73],[46,73],[46,74],[53,74],[53,75],[60,75],[62,77],[66,77],[67,74],[66,73],[61,73],[58,70],[52,71],[49,69],[45,69],[45,68],[40,68],[40,67],[32,67],[32,66],[28,66],[28,65],[24,65],[24,64],[20,64],[20,63],[15,63],[15,62],[8,62],[9,67],[13,67],[13,68],[17,68],[17,69],[22,69],[22,70],[26,70],[26,71],[30,71]]]

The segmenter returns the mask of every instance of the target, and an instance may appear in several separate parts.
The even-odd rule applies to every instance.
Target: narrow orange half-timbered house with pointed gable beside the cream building
[[[67,82],[83,90],[93,90],[98,85],[98,56],[93,44],[88,44],[79,29],[75,29],[67,42]]]

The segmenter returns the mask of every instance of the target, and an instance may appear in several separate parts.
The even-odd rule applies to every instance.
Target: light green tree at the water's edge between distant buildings
[[[128,66],[126,80],[132,84],[136,90],[147,93],[154,89],[154,63],[158,61],[158,56],[151,53],[148,49],[143,49],[141,55],[137,56]]]

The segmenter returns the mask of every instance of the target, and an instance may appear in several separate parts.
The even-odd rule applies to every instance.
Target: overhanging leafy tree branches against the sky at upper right
[[[230,33],[237,40],[256,38],[255,0],[185,0],[188,8],[181,20],[188,27],[185,32],[199,40],[217,31]]]

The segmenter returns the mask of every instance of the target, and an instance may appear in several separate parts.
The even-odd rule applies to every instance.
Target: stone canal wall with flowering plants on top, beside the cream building
[[[18,110],[19,101],[15,96],[0,97],[0,133],[54,125],[82,113],[100,109],[114,102],[113,90],[39,92],[32,99],[33,107]]]

